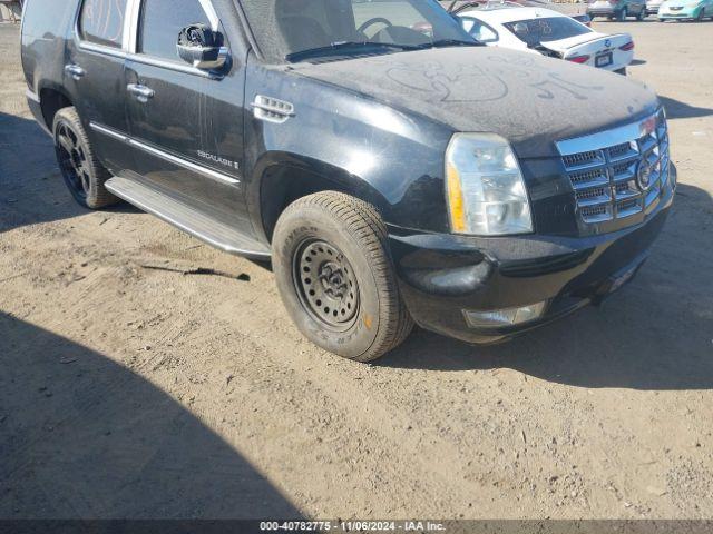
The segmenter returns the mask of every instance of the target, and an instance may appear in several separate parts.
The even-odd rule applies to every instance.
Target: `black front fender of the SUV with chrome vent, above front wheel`
[[[452,129],[285,68],[250,67],[246,102],[257,95],[290,102],[294,116],[282,123],[246,117],[253,211],[261,191],[270,195],[263,180],[277,165],[372,202],[387,224],[447,230],[443,155]]]

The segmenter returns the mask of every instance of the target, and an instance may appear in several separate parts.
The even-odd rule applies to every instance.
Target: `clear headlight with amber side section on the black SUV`
[[[446,151],[452,231],[502,236],[533,231],[525,180],[510,144],[494,134],[456,134]]]

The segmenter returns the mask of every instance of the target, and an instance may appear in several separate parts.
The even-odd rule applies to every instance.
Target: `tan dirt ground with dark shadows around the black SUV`
[[[419,330],[367,366],[266,268],[77,207],[0,26],[0,517],[713,518],[713,22],[596,27],[671,119],[648,264],[510,344]]]

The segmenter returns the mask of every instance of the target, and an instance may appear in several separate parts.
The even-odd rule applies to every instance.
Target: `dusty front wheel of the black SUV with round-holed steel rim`
[[[273,269],[293,322],[325,350],[372,362],[413,328],[385,225],[354,197],[324,191],[289,206],[273,236]]]

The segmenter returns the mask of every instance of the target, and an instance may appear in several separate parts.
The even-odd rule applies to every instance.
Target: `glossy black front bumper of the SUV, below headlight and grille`
[[[676,184],[675,167],[671,166]],[[666,188],[638,226],[590,237],[472,238],[412,234],[392,228],[391,254],[401,295],[416,323],[468,343],[488,344],[598,304],[628,283],[648,257],[673,204]],[[546,303],[544,313],[518,325],[472,327],[466,312]]]

